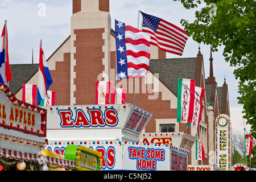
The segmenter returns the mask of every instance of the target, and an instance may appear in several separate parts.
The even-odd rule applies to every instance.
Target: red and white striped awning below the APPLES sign
[[[15,150],[8,150],[5,148],[0,148],[0,157],[4,156],[5,158],[16,159],[16,160],[25,160],[30,162],[36,162],[41,164],[52,164],[54,166],[61,166],[64,168],[76,168],[76,161],[66,160],[60,158],[53,158],[51,156],[41,155],[41,154],[31,154],[29,152],[20,152]]]

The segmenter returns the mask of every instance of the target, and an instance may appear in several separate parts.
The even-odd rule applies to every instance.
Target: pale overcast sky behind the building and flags
[[[201,5],[203,7],[204,5]],[[158,16],[180,28],[181,19],[192,22],[195,10],[185,9],[179,1],[171,0],[110,0],[110,16],[112,28],[114,20],[139,28],[141,15],[138,11]],[[39,63],[39,43],[42,39],[46,59],[70,35],[70,19],[72,15],[72,0],[1,0],[0,1],[0,31],[2,32],[5,19],[9,39],[10,64],[30,64],[32,49],[34,63]],[[2,24],[2,25],[1,25]],[[167,58],[196,57],[199,43],[188,38],[182,56],[167,54]],[[209,76],[210,46],[200,44],[200,51],[204,57],[205,78]],[[230,117],[232,129],[243,132],[242,105],[237,104],[238,81],[234,78],[234,68],[226,63],[222,56],[223,48],[213,52],[213,75],[218,86],[222,86],[224,78],[229,88]],[[189,69],[189,68],[188,68]],[[249,131],[249,126],[246,126]]]

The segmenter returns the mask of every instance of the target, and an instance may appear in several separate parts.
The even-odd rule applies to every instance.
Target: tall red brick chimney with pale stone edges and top
[[[110,29],[109,0],[73,0],[71,105],[95,104],[95,81],[109,80]]]

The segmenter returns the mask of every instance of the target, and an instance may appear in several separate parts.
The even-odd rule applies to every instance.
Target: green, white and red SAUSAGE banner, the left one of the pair
[[[192,123],[195,102],[195,80],[178,78],[177,122]]]

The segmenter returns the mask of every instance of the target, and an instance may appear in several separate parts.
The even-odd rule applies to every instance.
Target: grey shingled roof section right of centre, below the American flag
[[[177,96],[177,78],[195,80],[196,57],[151,59],[149,69]]]

